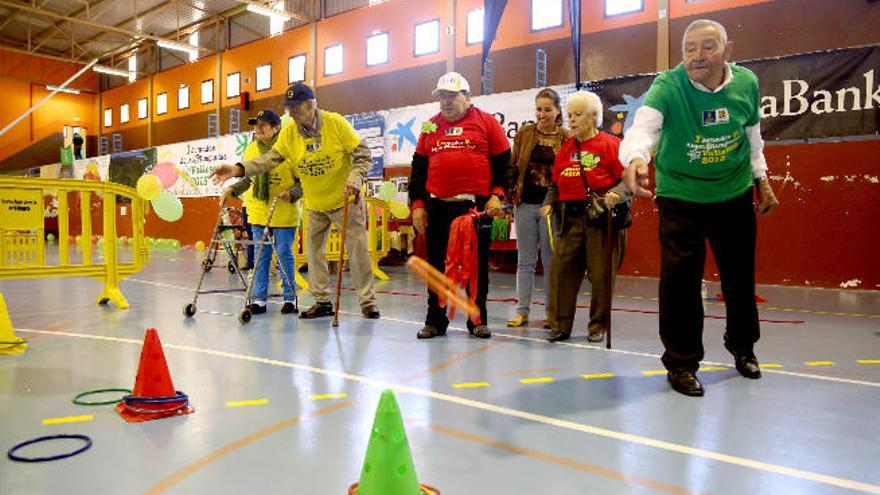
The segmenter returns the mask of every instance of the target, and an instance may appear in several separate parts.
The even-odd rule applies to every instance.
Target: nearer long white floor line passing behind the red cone
[[[63,337],[76,337],[76,338],[84,338],[91,340],[99,340],[99,341],[107,341],[107,342],[119,342],[124,344],[132,344],[132,345],[141,345],[142,341],[135,339],[123,339],[119,337],[106,337],[102,335],[89,335],[82,333],[72,333],[72,332],[50,332],[45,330],[32,330],[32,329],[17,329],[19,332],[23,333],[36,333],[43,335],[52,335],[52,336],[63,336]],[[307,366],[303,364],[296,364],[287,361],[278,361],[275,359],[266,359],[258,356],[249,356],[246,354],[237,354],[232,352],[218,351],[212,349],[204,349],[201,347],[194,347],[189,345],[181,345],[181,344],[171,344],[171,343],[163,343],[162,346],[165,349],[176,349],[181,351],[190,351],[200,354],[205,354],[209,356],[223,357],[229,359],[236,359],[239,361],[249,361],[253,363],[266,364],[270,366],[279,366],[284,368],[296,369],[300,371],[305,371],[308,373],[314,373],[324,376],[332,376],[336,378],[342,378],[345,380],[354,381],[357,383],[362,383],[365,385],[370,385],[373,387],[378,387],[382,389],[393,389],[399,393],[411,393],[414,395],[419,395],[422,397],[427,397],[431,399],[436,399],[452,404],[457,404],[465,407],[472,407],[475,409],[479,409],[486,412],[502,414],[505,416],[510,416],[514,418],[523,419],[526,421],[533,421],[536,423],[545,424],[548,426],[555,426],[558,428],[564,428],[572,431],[579,431],[582,433],[587,433],[591,435],[597,435],[600,437],[611,438],[614,440],[619,440],[622,442],[633,443],[637,445],[643,445],[646,447],[653,447],[660,450],[666,450],[669,452],[676,452],[679,454],[690,455],[694,457],[702,457],[704,459],[710,459],[713,461],[723,462],[726,464],[731,464],[735,466],[746,467],[750,469],[755,469],[759,471],[764,471],[772,474],[779,474],[783,476],[790,476],[793,478],[799,478],[807,481],[813,481],[816,483],[821,483],[830,486],[836,486],[840,488],[846,488],[850,490],[858,490],[865,493],[875,493],[880,494],[880,486],[871,485],[869,483],[863,483],[854,480],[848,480],[845,478],[838,478],[835,476],[824,475],[820,473],[814,473],[812,471],[805,471],[801,469],[790,468],[786,466],[780,466],[778,464],[771,464],[768,462],[756,461],[753,459],[748,459],[745,457],[738,457],[728,454],[723,454],[720,452],[715,452],[712,450],[699,449],[695,447],[689,447],[687,445],[681,445],[672,442],[666,442],[663,440],[657,440],[651,437],[645,437],[641,435],[632,435],[629,433],[624,433],[615,430],[609,430],[606,428],[599,428],[596,426],[585,425],[581,423],[575,423],[573,421],[566,421],[563,419],[551,418],[548,416],[542,416],[540,414],[534,414],[526,411],[520,411],[517,409],[511,409],[507,407],[497,406],[495,404],[489,404],[486,402],[480,402],[476,400],[466,399],[463,397],[456,397],[453,395],[442,394],[439,392],[433,392],[430,390],[425,390],[417,387],[413,387],[410,385],[403,385],[398,383],[386,382],[383,380],[377,380],[374,378],[369,378],[366,376],[355,375],[351,373],[344,373],[340,371],[332,371],[324,368],[317,368],[314,366]]]

